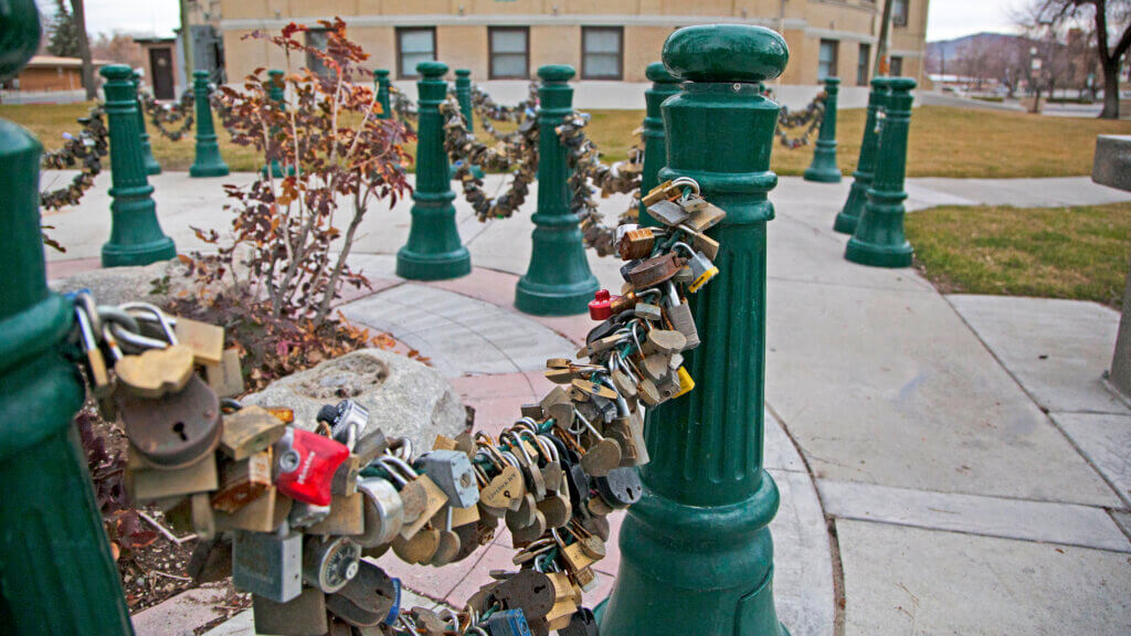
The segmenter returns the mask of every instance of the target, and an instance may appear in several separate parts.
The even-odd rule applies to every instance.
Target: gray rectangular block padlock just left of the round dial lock
[[[238,530],[232,539],[232,583],[276,603],[302,592],[303,545],[301,534]]]

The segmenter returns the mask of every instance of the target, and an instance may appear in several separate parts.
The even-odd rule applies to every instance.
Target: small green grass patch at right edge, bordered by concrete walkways
[[[906,224],[916,267],[944,292],[1122,306],[1131,204],[939,207],[907,215]]]

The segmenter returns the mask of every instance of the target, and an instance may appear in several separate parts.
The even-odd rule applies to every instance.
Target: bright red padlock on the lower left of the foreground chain
[[[329,506],[334,473],[347,457],[346,445],[287,427],[275,442],[275,488],[292,499]]]

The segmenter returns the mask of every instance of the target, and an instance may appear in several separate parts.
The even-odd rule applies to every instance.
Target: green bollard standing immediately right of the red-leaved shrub
[[[397,275],[413,281],[458,278],[472,272],[472,255],[456,229],[448,154],[443,151],[440,104],[448,96],[448,65],[421,62],[416,83],[420,123],[416,141],[416,189],[408,242],[397,251]]]

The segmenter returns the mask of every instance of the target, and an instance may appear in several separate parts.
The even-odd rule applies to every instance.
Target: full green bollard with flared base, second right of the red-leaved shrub
[[[536,227],[530,265],[515,292],[515,307],[535,316],[584,313],[599,287],[589,270],[577,215],[570,212],[569,163],[554,132],[573,112],[569,79],[575,74],[568,65],[538,69],[538,209],[532,217]]]

